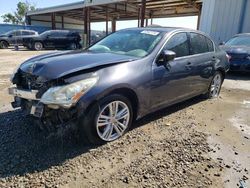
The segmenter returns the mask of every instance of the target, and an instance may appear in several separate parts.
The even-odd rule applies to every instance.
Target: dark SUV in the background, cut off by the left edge
[[[13,30],[0,35],[0,48],[5,49],[12,45],[22,45],[23,38],[29,36],[38,36],[36,31],[32,30]]]

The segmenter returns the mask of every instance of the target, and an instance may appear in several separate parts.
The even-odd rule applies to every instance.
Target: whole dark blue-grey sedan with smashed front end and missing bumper
[[[132,28],[87,50],[25,61],[9,94],[14,108],[49,130],[73,122],[82,137],[101,144],[146,114],[201,94],[218,97],[228,69],[226,53],[202,32]]]

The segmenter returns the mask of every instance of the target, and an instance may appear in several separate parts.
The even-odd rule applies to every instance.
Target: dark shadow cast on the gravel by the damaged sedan
[[[133,129],[203,101],[201,97],[145,116]],[[21,110],[0,114],[0,178],[44,171],[98,146],[80,144],[72,134],[46,137]]]

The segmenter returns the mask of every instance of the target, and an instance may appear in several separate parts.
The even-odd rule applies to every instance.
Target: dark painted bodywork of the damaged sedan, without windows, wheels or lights
[[[164,31],[164,28],[139,29]],[[123,92],[135,93],[133,97],[138,101],[136,118],[140,118],[155,110],[206,93],[214,73],[221,70],[224,74],[228,69],[226,53],[221,50],[176,58],[169,63],[169,68],[157,64],[163,46],[178,32],[189,30],[166,29],[164,37],[152,52],[142,58],[89,51],[60,52],[31,58],[20,69],[46,78],[48,82],[63,79],[65,84],[82,80],[88,74],[97,75],[98,82],[76,105],[79,113],[84,113],[92,103],[122,89]]]

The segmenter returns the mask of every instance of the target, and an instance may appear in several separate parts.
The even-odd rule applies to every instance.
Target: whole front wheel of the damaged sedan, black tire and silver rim
[[[110,114],[110,109],[116,109],[116,115]],[[114,141],[129,130],[132,120],[132,105],[126,97],[118,94],[107,96],[90,107],[87,114],[80,118],[80,138],[94,145]]]

